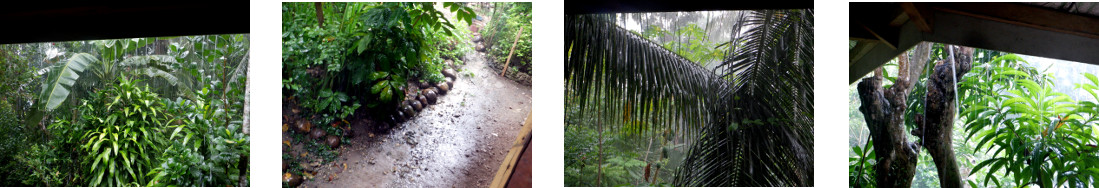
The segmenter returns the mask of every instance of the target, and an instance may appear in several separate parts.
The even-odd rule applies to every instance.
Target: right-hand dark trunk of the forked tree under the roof
[[[956,79],[969,71],[973,62],[970,47],[947,46],[948,58],[939,62],[928,78],[928,98],[924,100],[923,118],[917,118],[917,130],[912,132],[924,140],[924,147],[939,169],[941,187],[962,187],[962,174],[954,156],[954,117],[957,109]],[[920,130],[923,132],[920,133]],[[922,135],[921,135],[922,134]]]

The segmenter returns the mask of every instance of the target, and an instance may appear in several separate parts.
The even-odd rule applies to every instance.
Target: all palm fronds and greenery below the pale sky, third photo
[[[711,49],[566,15],[566,186],[812,186],[812,18],[746,11]]]

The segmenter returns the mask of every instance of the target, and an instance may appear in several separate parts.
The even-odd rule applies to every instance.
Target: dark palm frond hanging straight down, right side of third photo
[[[722,78],[732,80],[732,93],[723,95],[730,102],[715,111],[725,117],[717,124],[739,129],[708,129],[707,140],[700,141],[707,144],[695,144],[690,152],[701,155],[687,159],[688,166],[734,174],[682,170],[678,177],[689,179],[677,184],[812,185],[812,10],[752,11],[747,16],[748,30],[733,40],[742,46],[719,66],[725,70]]]

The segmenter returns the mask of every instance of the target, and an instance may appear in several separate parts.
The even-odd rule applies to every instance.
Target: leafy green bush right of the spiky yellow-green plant
[[[143,185],[238,186],[234,184],[242,174],[237,162],[248,155],[248,136],[236,131],[240,123],[223,122],[227,114],[212,110],[202,100],[211,99],[210,93],[203,89],[199,91],[199,100],[162,101],[165,112],[175,118],[165,128],[170,134],[157,158],[158,165]]]

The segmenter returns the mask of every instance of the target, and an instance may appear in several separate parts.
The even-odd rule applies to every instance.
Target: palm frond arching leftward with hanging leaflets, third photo
[[[685,129],[710,121],[706,110],[719,98],[721,80],[717,75],[658,44],[615,25],[608,15],[566,18],[566,85],[569,95],[589,98],[603,109],[581,107],[586,111],[615,111],[621,118],[603,119],[601,124],[635,132]],[[617,109],[617,110],[615,110]],[[621,110],[621,111],[618,111]],[[693,126],[699,128],[699,126]],[[693,136],[690,136],[693,137]]]

